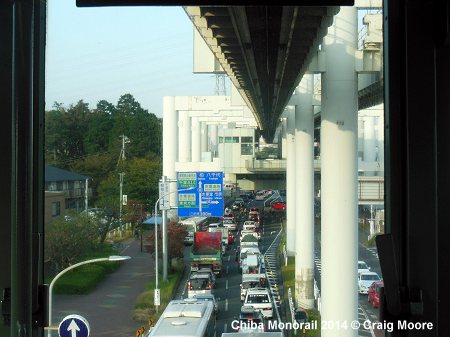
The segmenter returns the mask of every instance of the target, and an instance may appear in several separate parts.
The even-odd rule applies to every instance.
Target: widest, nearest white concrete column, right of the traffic
[[[341,7],[328,29],[322,80],[321,319],[348,324],[322,337],[356,337],[358,319],[357,11]]]

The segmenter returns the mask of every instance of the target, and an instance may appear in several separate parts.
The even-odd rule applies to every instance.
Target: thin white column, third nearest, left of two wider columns
[[[295,255],[295,113],[291,107],[286,122],[286,250]],[[291,206],[289,206],[291,205]]]

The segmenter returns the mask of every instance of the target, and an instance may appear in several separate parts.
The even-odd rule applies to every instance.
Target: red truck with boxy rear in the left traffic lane
[[[191,250],[191,271],[211,268],[218,277],[222,274],[222,233],[195,232]]]

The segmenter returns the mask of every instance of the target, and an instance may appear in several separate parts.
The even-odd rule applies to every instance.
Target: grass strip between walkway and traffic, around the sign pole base
[[[181,261],[182,262],[182,261]],[[159,280],[159,289],[161,294],[161,305],[158,313],[154,303],[155,280],[150,281],[141,293],[134,305],[133,319],[137,322],[148,323],[149,320],[156,324],[167,304],[172,300],[173,294],[183,273],[183,263],[174,266],[172,272],[167,275],[167,281]]]

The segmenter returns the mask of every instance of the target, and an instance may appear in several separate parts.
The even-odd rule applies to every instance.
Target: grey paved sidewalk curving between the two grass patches
[[[140,251],[140,240],[123,242],[121,255],[131,256],[88,295],[53,295],[52,325],[58,326],[70,314],[86,318],[91,337],[132,337],[144,325],[135,322],[132,311],[137,296],[154,273],[154,261],[150,254]],[[114,262],[111,262],[114,263]],[[52,337],[58,336],[53,331]]]

